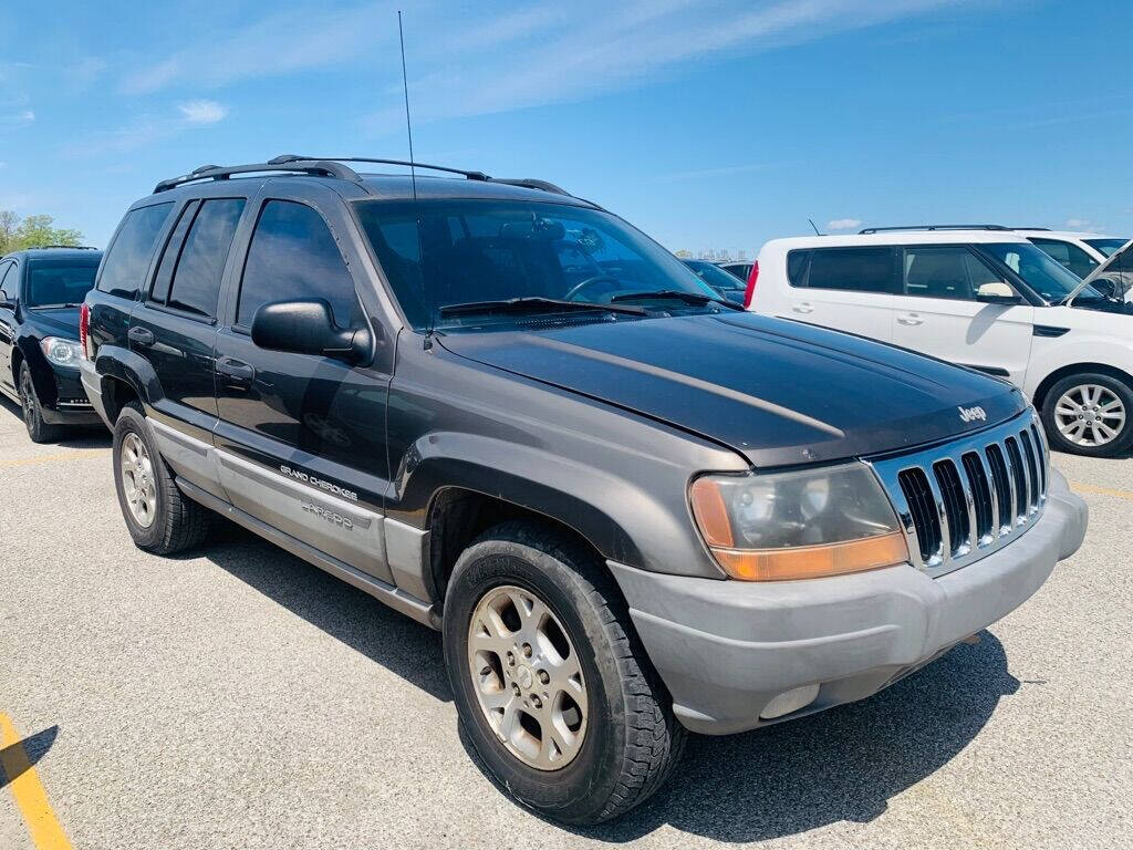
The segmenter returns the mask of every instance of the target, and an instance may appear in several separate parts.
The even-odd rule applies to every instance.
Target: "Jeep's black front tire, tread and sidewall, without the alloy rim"
[[[526,764],[501,742],[480,706],[469,628],[479,602],[503,586],[521,588],[546,605],[572,652],[578,649],[585,736],[562,767]],[[547,818],[588,825],[617,817],[661,788],[680,760],[685,730],[673,716],[616,585],[593,552],[553,527],[505,522],[465,550],[445,595],[444,654],[460,721],[477,756],[499,785]]]

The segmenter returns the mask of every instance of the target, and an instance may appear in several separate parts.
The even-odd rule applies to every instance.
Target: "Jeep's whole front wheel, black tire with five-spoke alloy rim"
[[[457,562],[444,654],[460,721],[497,783],[595,824],[668,777],[685,732],[603,564],[556,530],[501,525]]]

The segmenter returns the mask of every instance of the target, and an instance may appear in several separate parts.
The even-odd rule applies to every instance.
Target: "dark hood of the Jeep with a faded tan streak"
[[[446,333],[441,342],[723,443],[757,467],[946,440],[1026,406],[1019,390],[977,372],[752,313]]]

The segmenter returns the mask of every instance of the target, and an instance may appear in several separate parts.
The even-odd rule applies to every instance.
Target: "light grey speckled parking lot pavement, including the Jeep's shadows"
[[[978,644],[693,737],[666,790],[569,831],[469,757],[437,634],[236,528],[140,552],[109,445],[34,445],[0,403],[3,850],[52,847],[28,811],[100,849],[1133,847],[1133,459],[1056,457],[1085,545]]]

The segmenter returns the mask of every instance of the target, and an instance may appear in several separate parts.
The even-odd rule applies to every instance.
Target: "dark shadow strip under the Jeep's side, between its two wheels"
[[[452,700],[441,635],[346,581],[231,522],[220,522],[204,555],[312,626],[429,696]]]

